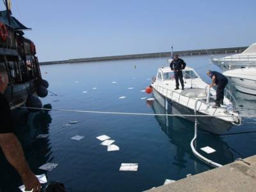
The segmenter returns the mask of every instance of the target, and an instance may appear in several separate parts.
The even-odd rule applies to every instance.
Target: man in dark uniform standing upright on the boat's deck
[[[178,54],[174,55],[174,58],[170,64],[170,68],[172,68],[174,72],[174,77],[176,81],[176,88],[174,90],[179,90],[179,79],[180,79],[180,84],[182,87],[182,90],[184,90],[184,81],[183,81],[183,74],[182,74],[182,69],[186,67],[186,63],[179,58]]]

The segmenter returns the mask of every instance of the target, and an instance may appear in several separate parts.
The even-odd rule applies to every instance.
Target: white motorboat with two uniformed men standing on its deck
[[[193,68],[183,70],[184,90],[174,90],[175,79],[170,67],[159,68],[156,79],[151,84],[154,97],[168,111],[173,114],[211,115],[199,117],[198,122],[203,129],[215,134],[222,134],[230,129],[233,124],[240,125],[235,99],[230,92],[226,92],[221,108],[212,108],[216,99],[216,91],[209,88],[208,84],[196,74]],[[183,116],[195,122],[194,116]]]

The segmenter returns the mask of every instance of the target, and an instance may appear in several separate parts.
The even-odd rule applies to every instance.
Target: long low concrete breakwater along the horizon
[[[180,56],[196,56],[205,54],[233,54],[243,52],[247,47],[228,47],[228,48],[218,48],[218,49],[198,49],[190,51],[175,51],[173,54],[179,54]],[[127,60],[127,59],[138,59],[138,58],[167,58],[171,56],[171,52],[153,52],[145,54],[127,54],[120,56],[104,56],[95,58],[79,58],[70,59],[62,61],[47,61],[41,62],[40,65],[53,65],[53,64],[63,64],[63,63],[80,63],[80,62],[90,62],[90,61],[109,61],[109,60]]]

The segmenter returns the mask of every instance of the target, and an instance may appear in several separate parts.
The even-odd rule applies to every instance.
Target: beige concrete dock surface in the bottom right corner
[[[256,191],[256,156],[148,191]]]

